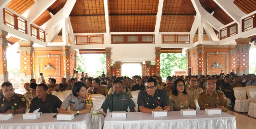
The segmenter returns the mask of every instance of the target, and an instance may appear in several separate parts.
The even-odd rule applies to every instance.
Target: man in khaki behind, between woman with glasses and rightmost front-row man
[[[188,94],[193,98],[193,99],[197,99],[197,94],[200,92],[203,92],[204,90],[201,87],[197,87],[197,79],[196,76],[190,76],[188,78],[188,81],[190,83],[190,89],[188,89]]]

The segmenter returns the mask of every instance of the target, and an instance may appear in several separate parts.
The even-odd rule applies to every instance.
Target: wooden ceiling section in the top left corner
[[[18,14],[23,14],[28,8],[35,4],[34,0],[12,0],[7,7]]]

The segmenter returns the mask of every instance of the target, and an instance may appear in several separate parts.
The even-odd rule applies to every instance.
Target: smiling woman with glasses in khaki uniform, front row
[[[186,93],[183,79],[174,81],[172,95],[169,97],[170,111],[180,111],[180,109],[196,109],[193,98]]]

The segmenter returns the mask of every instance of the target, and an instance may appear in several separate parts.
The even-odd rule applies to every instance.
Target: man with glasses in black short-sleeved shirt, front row
[[[146,90],[138,93],[138,107],[139,111],[144,113],[170,110],[167,92],[157,88],[156,79],[147,79]]]

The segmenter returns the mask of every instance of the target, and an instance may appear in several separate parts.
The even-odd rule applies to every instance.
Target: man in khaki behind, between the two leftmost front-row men
[[[31,83],[30,84],[30,92],[24,93],[24,97],[26,99],[26,104],[28,106],[28,109],[30,109],[30,103],[31,103],[32,99],[37,96],[36,95],[36,86],[37,86],[36,83],[34,83],[34,82]]]

